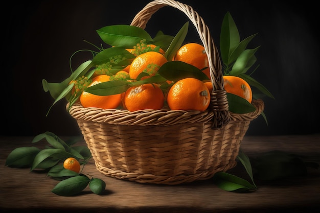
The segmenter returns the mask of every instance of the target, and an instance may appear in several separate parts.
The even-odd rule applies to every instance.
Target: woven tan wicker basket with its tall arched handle
[[[141,183],[179,184],[204,180],[236,165],[240,143],[264,103],[254,100],[255,112],[228,111],[221,62],[203,19],[190,6],[173,0],[147,4],[131,22],[142,29],[158,9],[171,6],[194,24],[209,58],[214,91],[207,111],[83,108],[75,104],[76,119],[98,171]]]

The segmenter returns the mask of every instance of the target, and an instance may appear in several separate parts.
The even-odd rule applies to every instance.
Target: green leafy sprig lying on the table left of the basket
[[[52,132],[45,132],[34,137],[32,143],[47,140],[49,146],[45,149],[36,147],[20,147],[8,155],[5,165],[11,168],[31,168],[33,170],[49,170],[48,176],[61,180],[52,190],[60,196],[72,196],[80,193],[89,184],[95,194],[102,194],[105,182],[98,178],[88,178],[81,171],[84,165],[92,158],[86,146],[74,146],[77,141],[64,141]],[[74,157],[82,165],[80,173],[63,168],[63,161]]]

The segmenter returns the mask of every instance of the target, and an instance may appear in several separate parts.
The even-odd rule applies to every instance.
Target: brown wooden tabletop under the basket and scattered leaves
[[[33,137],[0,136],[0,163],[17,147],[34,146]],[[84,143],[81,141],[80,143]],[[320,163],[320,134],[283,136],[245,136],[241,147],[251,157],[271,150],[307,156]],[[229,171],[228,171],[229,172]],[[253,193],[226,192],[212,180],[181,185],[142,184],[106,177],[91,160],[83,171],[106,182],[99,196],[89,188],[77,196],[63,197],[51,192],[58,183],[47,173],[30,169],[0,169],[1,212],[315,212],[320,208],[320,171],[308,169],[308,175],[278,181],[255,181]],[[246,174],[242,165],[230,170]],[[248,179],[249,180],[249,179]]]

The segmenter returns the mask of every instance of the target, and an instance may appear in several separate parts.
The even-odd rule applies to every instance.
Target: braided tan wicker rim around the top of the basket
[[[253,100],[256,111],[237,114],[230,112],[231,121],[252,121],[264,110],[261,99]],[[68,109],[69,103],[66,105]],[[175,125],[182,123],[211,123],[216,116],[213,111],[205,110],[170,110],[147,109],[128,111],[125,109],[102,109],[95,107],[84,108],[80,103],[70,107],[69,113],[76,120],[108,123],[113,125]]]

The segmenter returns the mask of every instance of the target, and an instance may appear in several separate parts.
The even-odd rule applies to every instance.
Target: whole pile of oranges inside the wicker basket
[[[143,50],[148,50],[143,51]],[[157,74],[159,68],[168,62],[165,51],[154,44],[139,43],[132,49],[126,49],[135,58],[131,64],[124,66],[115,75],[107,72],[107,67],[97,66],[94,75],[90,79],[82,79],[82,87],[90,87],[102,82],[112,80],[136,81],[141,73],[148,75],[142,77],[150,78]],[[204,46],[199,43],[187,43],[177,51],[172,61],[182,61],[200,69],[210,77],[208,67],[208,56]],[[236,94],[252,101],[252,90],[247,82],[236,76],[223,76],[224,88],[227,92]],[[75,82],[75,81],[73,81]],[[97,107],[102,109],[125,109],[129,111],[145,109],[171,110],[206,110],[210,104],[210,93],[213,89],[211,80],[198,80],[196,78],[184,78],[176,82],[167,81],[166,89],[161,84],[145,83],[139,86],[132,86],[125,92],[99,96],[97,94],[82,91],[79,101],[83,107]],[[79,82],[75,84],[79,85]],[[77,89],[77,88],[75,88]]]

